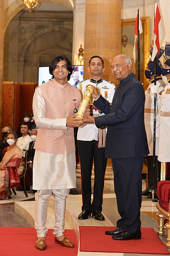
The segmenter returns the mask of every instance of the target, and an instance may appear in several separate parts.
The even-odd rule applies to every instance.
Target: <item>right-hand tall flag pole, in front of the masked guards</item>
[[[156,0],[154,1],[156,3]],[[155,23],[155,3],[154,3],[154,23]],[[154,24],[155,26],[155,24]],[[156,56],[154,59],[154,85],[156,85]],[[152,199],[154,198],[155,189],[155,145],[156,145],[156,96],[154,93],[154,117],[153,117],[153,187],[152,187]]]

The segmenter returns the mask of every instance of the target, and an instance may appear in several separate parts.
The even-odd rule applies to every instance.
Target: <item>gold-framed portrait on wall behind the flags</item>
[[[138,78],[138,51],[136,49],[136,61],[133,59],[133,47],[135,40],[135,21],[127,19],[121,21],[121,54],[128,55],[132,60],[133,72]],[[150,17],[141,17],[143,33],[140,34],[140,81],[144,84],[144,90],[148,87],[148,79],[144,76],[147,67],[147,58],[150,55]],[[122,38],[123,37],[123,38]],[[125,47],[124,47],[125,46]]]

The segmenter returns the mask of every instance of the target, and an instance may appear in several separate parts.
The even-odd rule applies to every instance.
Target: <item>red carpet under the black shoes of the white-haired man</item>
[[[80,251],[102,253],[170,254],[153,228],[141,228],[141,239],[116,241],[104,234],[115,227],[80,226]]]

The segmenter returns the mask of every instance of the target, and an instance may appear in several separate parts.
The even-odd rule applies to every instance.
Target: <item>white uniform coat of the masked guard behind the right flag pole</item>
[[[161,77],[157,77],[156,85],[158,85],[158,92],[160,93],[164,89],[164,82]],[[150,81],[150,85],[145,91],[145,104],[144,104],[144,124],[147,133],[147,142],[149,146],[150,154],[153,156],[153,122],[154,122],[154,101],[150,94],[150,89],[154,85],[154,80]],[[161,95],[157,96],[157,113],[156,113],[156,149],[155,154],[158,155],[158,137],[159,137],[159,125],[160,125],[160,102]]]

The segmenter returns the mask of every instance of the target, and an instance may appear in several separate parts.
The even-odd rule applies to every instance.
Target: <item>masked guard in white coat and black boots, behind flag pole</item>
[[[161,62],[159,58],[163,54],[164,50],[160,49],[160,55],[157,55],[156,63],[156,85],[158,86],[158,92],[160,93],[165,84],[161,78]],[[150,55],[152,56],[153,49],[150,49]],[[147,64],[147,69],[145,70],[145,76],[147,79],[150,79],[150,84],[145,91],[145,104],[144,104],[144,124],[147,132],[147,142],[149,146],[150,154],[147,155],[147,169],[148,169],[148,187],[142,192],[143,196],[152,198],[152,188],[153,188],[153,121],[154,121],[154,102],[151,99],[150,90],[154,86],[154,61],[149,61]],[[157,102],[160,102],[161,95],[158,94]],[[160,104],[158,104],[157,115],[156,115],[156,152],[155,152],[155,182],[160,180],[161,173],[161,163],[158,161],[158,134],[159,134],[159,109]],[[158,175],[159,174],[159,175]],[[157,198],[157,195],[154,195],[154,198]]]

